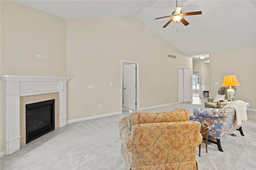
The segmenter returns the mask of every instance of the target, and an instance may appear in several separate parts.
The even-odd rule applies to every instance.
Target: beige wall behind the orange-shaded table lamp
[[[256,109],[256,46],[210,53],[210,97],[214,98],[225,75],[236,75],[235,99],[250,103]],[[214,82],[218,82],[215,85]]]

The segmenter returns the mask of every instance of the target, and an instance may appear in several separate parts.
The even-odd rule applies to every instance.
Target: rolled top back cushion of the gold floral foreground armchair
[[[161,122],[183,122],[188,121],[189,111],[184,109],[175,109],[173,111],[162,113],[131,113],[128,117],[128,127],[143,123],[161,123]]]

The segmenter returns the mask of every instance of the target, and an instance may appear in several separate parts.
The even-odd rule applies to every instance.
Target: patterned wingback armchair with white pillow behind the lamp
[[[234,97],[236,94],[236,87],[232,86],[234,89]],[[221,95],[225,95],[223,100],[228,100],[228,94],[227,94],[228,87],[220,87],[218,89],[218,95],[214,99],[209,99],[208,101],[204,102],[204,108],[220,108],[221,102],[219,101],[218,97]],[[234,100],[234,97],[232,100]]]

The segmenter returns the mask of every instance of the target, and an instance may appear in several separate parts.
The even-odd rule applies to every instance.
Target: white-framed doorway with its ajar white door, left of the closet
[[[121,111],[139,109],[139,70],[139,62],[121,61]]]

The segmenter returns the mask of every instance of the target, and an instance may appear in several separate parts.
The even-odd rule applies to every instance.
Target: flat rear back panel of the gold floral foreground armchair
[[[196,121],[133,125],[133,167],[195,161],[200,127]]]

